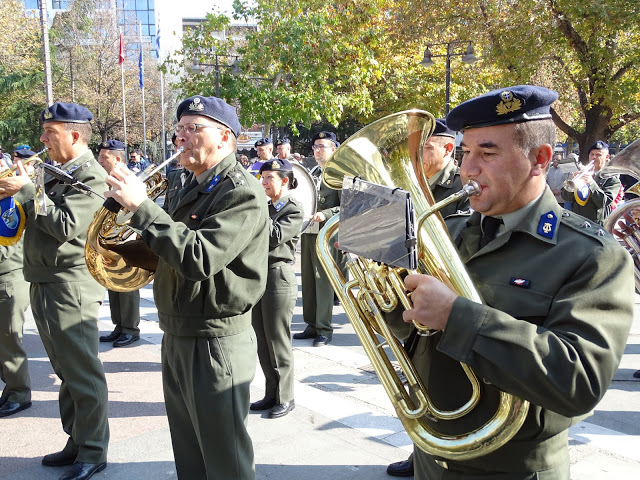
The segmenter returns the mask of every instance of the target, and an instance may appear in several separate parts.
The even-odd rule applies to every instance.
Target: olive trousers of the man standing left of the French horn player
[[[107,381],[98,358],[98,309],[104,287],[95,280],[32,283],[31,309],[44,348],[62,381],[58,395],[67,452],[101,463],[109,444]]]

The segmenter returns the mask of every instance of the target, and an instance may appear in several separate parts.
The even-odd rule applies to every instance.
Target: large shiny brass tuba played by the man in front
[[[459,295],[481,302],[437,212],[448,200],[434,205],[423,172],[422,145],[433,132],[434,125],[433,116],[420,110],[382,118],[360,130],[336,150],[323,170],[323,180],[330,187],[339,189],[345,175],[359,176],[369,182],[408,191],[419,218],[418,272],[433,275]],[[434,405],[411,359],[384,320],[384,312],[395,310],[398,302],[404,308],[410,307],[402,282],[404,271],[364,258],[352,258],[348,268],[353,280],[347,282],[330,253],[330,239],[338,230],[337,220],[337,216],[331,218],[320,231],[316,245],[318,257],[411,440],[431,455],[458,461],[486,455],[508,442],[522,426],[529,404],[504,392],[500,394],[493,417],[466,434],[440,433],[425,421],[425,416],[446,421],[469,413],[479,401],[480,382],[469,367],[461,364],[471,382],[471,398],[451,411],[440,410]],[[384,338],[382,344],[377,335]],[[406,386],[392,366],[385,346],[400,364]]]

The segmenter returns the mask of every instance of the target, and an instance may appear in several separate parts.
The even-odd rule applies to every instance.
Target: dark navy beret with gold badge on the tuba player
[[[544,120],[551,118],[551,104],[557,99],[553,90],[535,85],[501,88],[461,103],[449,112],[446,122],[461,131]]]

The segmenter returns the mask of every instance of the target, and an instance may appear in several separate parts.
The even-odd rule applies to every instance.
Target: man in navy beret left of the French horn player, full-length
[[[104,169],[88,143],[91,112],[74,103],[54,103],[40,119],[40,141],[60,168],[97,192],[104,191]],[[69,435],[62,451],[45,455],[45,466],[71,465],[64,480],[88,479],[107,466],[109,425],[107,383],[98,358],[98,309],[104,287],[84,259],[87,229],[102,204],[45,173],[45,214],[36,214],[36,186],[21,163],[20,175],[0,180],[0,196],[13,195],[27,214],[24,277],[38,332],[53,370],[61,380],[62,427]]]

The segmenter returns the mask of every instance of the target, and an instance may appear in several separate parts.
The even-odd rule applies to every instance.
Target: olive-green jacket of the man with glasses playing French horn
[[[267,277],[264,189],[232,154],[204,182],[178,195],[170,214],[147,200],[131,218],[160,257],[153,285],[160,327],[179,336],[234,335],[251,328],[251,308]]]

